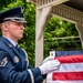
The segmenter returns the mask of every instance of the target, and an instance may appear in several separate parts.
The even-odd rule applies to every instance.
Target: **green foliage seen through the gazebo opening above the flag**
[[[77,37],[79,32],[71,22],[63,21],[59,18],[51,18],[44,29],[44,54],[49,55],[51,50],[81,50],[80,38],[74,39],[55,39],[65,37]]]

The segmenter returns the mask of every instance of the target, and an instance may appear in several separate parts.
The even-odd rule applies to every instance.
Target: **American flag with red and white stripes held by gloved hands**
[[[83,83],[83,51],[52,51],[60,66],[48,74],[46,83]]]

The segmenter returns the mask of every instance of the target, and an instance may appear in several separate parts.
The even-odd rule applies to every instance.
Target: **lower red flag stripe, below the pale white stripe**
[[[83,72],[54,72],[52,74],[52,80],[56,81],[76,81],[76,80],[83,80]]]

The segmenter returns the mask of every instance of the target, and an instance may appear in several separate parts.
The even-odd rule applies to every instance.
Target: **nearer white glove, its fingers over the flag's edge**
[[[59,65],[60,65],[60,62],[58,60],[51,60],[51,61],[44,62],[42,65],[39,66],[39,69],[41,70],[42,74],[46,74],[52,71],[55,71],[55,69],[58,69]]]

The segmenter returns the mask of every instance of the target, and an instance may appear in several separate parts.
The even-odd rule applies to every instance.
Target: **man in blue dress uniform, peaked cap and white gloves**
[[[23,7],[17,7],[0,13],[0,83],[42,83],[44,75],[60,65],[58,60],[48,58],[33,69],[25,51],[17,46],[23,37]]]

